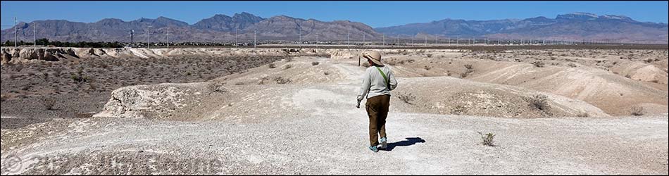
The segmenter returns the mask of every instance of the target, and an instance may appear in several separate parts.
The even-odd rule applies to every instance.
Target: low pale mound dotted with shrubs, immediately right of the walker
[[[608,116],[583,101],[520,87],[454,77],[404,78],[401,82],[392,103],[413,113],[504,118]]]

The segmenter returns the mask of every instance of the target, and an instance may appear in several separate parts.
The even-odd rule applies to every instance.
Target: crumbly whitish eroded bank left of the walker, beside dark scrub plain
[[[196,120],[206,109],[219,106],[203,103],[211,101],[211,94],[225,92],[222,84],[208,82],[123,87],[112,92],[104,111],[94,116]]]

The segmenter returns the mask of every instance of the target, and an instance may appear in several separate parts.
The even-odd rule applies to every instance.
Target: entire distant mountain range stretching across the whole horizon
[[[135,42],[146,42],[150,32],[151,42],[249,42],[259,40],[297,41],[362,41],[386,37],[463,37],[490,39],[559,39],[599,40],[604,42],[630,42],[667,44],[668,25],[665,23],[642,23],[622,15],[595,15],[592,13],[569,13],[556,18],[527,18],[524,20],[452,20],[430,23],[412,23],[392,27],[373,28],[349,20],[323,22],[314,19],[292,18],[277,15],[262,18],[251,13],[214,15],[193,25],[165,17],[140,18],[123,21],[106,18],[95,23],[79,23],[67,20],[36,20],[19,23],[18,39],[32,41],[33,27],[37,26],[37,38],[63,42],[130,42],[134,30]],[[168,34],[169,33],[169,34]],[[0,40],[13,40],[13,28],[2,30]],[[363,37],[364,36],[364,37]],[[387,41],[390,41],[387,38]]]

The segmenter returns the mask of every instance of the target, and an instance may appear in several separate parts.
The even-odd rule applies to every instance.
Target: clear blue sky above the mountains
[[[555,18],[589,12],[627,15],[634,20],[668,23],[667,1],[1,1],[3,29],[19,21],[103,18],[135,20],[165,16],[189,24],[215,14],[249,12],[263,18],[289,15],[316,20],[351,20],[372,27],[426,23],[445,18],[495,20]]]

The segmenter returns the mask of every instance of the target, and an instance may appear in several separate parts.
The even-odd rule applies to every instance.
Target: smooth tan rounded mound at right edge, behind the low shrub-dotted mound
[[[509,84],[580,99],[611,115],[630,115],[639,103],[667,106],[668,94],[620,75],[583,68],[546,67],[519,64],[496,70],[482,70],[472,80]],[[667,113],[667,110],[653,113]]]

